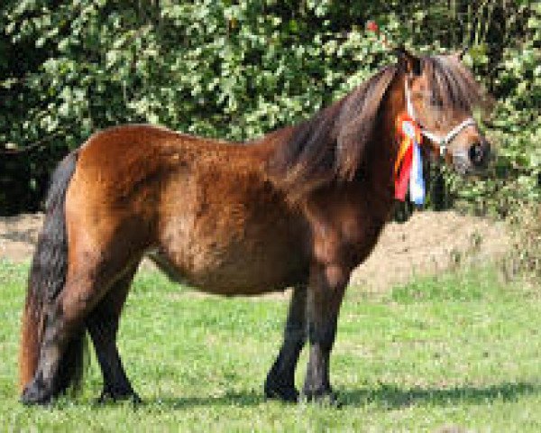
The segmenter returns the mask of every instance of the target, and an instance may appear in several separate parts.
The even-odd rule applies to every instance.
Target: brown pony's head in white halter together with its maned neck
[[[392,143],[398,135],[395,124],[405,114],[425,137],[420,140],[425,156],[441,156],[463,174],[484,169],[490,145],[472,112],[489,99],[460,57],[419,58],[400,49],[396,64],[380,69],[346,97],[267,136],[280,143],[268,161],[271,178],[290,197],[302,197],[331,182],[389,177],[392,168],[381,164],[399,159]]]

